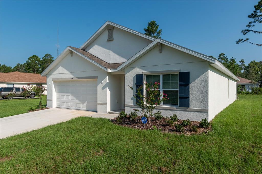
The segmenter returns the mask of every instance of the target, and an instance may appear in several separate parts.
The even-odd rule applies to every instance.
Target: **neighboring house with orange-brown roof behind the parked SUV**
[[[37,86],[46,86],[46,77],[42,77],[40,74],[33,73],[21,73],[18,71],[10,73],[0,73],[0,87],[23,87],[28,84]],[[47,92],[45,91],[44,94]]]

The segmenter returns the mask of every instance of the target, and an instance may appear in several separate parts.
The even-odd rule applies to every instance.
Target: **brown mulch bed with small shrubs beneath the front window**
[[[165,133],[175,133],[175,134],[185,134],[185,135],[192,135],[192,134],[201,134],[201,133],[208,133],[209,131],[212,130],[211,123],[209,124],[208,128],[202,128],[199,126],[199,121],[191,121],[191,124],[189,126],[184,126],[184,132],[178,132],[175,128],[175,124],[181,124],[183,120],[177,120],[177,122],[174,122],[173,126],[169,126],[165,121],[169,120],[169,118],[162,118],[161,120],[157,120],[153,117],[153,125],[148,122],[146,124],[143,124],[141,122],[142,117],[138,117],[135,119],[135,121],[131,121],[129,119],[129,116],[125,117],[122,119],[122,123],[117,123],[116,118],[112,119],[112,123],[120,125],[120,126],[125,126],[125,127],[130,127],[134,129],[141,129],[141,130],[153,130],[155,129],[153,126],[157,127],[157,130],[160,130],[161,132]],[[197,126],[197,132],[192,131],[192,126]]]

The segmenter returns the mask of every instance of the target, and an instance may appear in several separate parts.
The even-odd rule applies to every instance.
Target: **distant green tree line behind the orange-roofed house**
[[[25,73],[35,73],[41,74],[52,62],[54,61],[54,57],[51,54],[46,54],[42,59],[36,55],[32,55],[28,58],[28,60],[24,63],[17,63],[13,68],[10,66],[6,66],[5,64],[0,64],[0,72],[25,72]]]

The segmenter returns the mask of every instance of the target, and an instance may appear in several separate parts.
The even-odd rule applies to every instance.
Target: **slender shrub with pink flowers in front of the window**
[[[159,86],[159,82],[155,82],[153,84],[145,82],[144,85],[141,85],[135,91],[136,95],[134,95],[134,98],[137,100],[136,104],[140,107],[140,110],[134,109],[134,111],[140,112],[142,116],[149,118],[149,123],[151,124],[153,110],[156,106],[159,106],[160,103],[169,99],[167,94],[159,91]],[[133,90],[132,86],[129,86],[129,88]]]

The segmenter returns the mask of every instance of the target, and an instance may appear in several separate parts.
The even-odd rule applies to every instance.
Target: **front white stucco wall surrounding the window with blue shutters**
[[[208,62],[195,56],[183,53],[176,49],[162,45],[162,53],[155,47],[140,59],[125,69],[125,111],[129,113],[134,109],[127,105],[135,105],[133,95],[135,91],[128,85],[135,86],[135,75],[148,71],[177,70],[190,72],[190,108],[208,109]],[[130,100],[131,99],[131,100]],[[182,111],[172,109],[161,110],[163,116],[170,117],[177,114],[179,119],[200,121],[208,118],[208,112]]]

